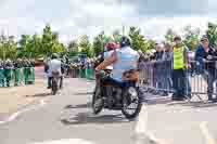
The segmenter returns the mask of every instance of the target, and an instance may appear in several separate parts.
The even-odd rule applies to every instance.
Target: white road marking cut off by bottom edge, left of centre
[[[46,141],[46,142],[30,143],[30,144],[95,144],[95,143],[81,139],[63,139],[63,140]]]

